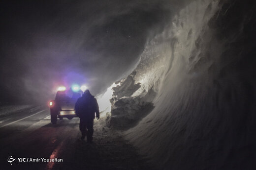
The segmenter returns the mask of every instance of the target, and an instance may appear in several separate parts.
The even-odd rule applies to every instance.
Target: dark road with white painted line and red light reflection
[[[4,170],[152,169],[118,131],[105,127],[104,118],[95,121],[94,144],[87,144],[80,137],[78,118],[52,125],[47,108],[17,111],[0,118],[1,165]],[[7,161],[9,156],[15,159],[12,165]],[[44,162],[42,158],[62,162]]]

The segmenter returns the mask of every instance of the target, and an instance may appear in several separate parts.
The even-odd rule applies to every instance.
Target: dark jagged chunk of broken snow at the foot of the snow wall
[[[112,88],[111,117],[107,118],[109,127],[122,130],[133,127],[154,108],[152,99],[156,93],[152,88],[151,93],[146,93],[144,89],[143,95],[133,96],[141,87],[140,83],[135,83],[134,77],[136,71]]]

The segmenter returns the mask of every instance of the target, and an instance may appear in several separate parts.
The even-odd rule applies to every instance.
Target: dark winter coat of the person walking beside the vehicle
[[[76,115],[80,119],[94,120],[95,113],[96,116],[99,117],[97,100],[91,94],[83,95],[82,97],[77,99],[75,103],[75,111]]]

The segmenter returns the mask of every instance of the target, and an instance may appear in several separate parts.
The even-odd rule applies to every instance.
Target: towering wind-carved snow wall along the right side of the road
[[[113,87],[108,125],[158,169],[255,167],[255,4],[191,1]]]

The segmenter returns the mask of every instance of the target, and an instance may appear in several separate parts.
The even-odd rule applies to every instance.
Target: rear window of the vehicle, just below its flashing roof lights
[[[55,100],[77,100],[82,96],[82,91],[73,92],[72,90],[58,91]]]

